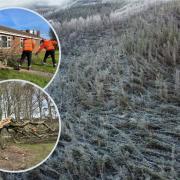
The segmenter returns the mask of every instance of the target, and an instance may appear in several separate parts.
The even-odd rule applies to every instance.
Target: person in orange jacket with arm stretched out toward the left
[[[53,67],[56,67],[56,60],[55,60],[55,49],[57,46],[57,41],[55,40],[41,40],[41,46],[39,50],[36,52],[36,55],[42,50],[45,49],[46,53],[43,59],[43,64],[46,64],[46,60],[49,57],[49,55],[52,58]]]

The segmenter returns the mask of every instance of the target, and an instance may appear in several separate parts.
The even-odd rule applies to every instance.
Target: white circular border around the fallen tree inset
[[[29,82],[29,81],[25,81],[25,80],[17,80],[17,79],[11,79],[11,80],[4,80],[4,81],[0,81],[0,85],[2,83],[6,83],[6,82],[22,82],[22,83],[26,83],[26,84],[31,84],[32,86],[36,87],[37,89],[40,89],[42,90],[42,92],[44,92],[49,98],[50,100],[53,102],[55,108],[56,108],[56,111],[57,111],[57,115],[59,116],[59,133],[58,133],[58,137],[57,137],[57,141],[53,147],[53,149],[50,151],[50,153],[48,154],[48,156],[40,161],[38,164],[32,166],[31,168],[28,168],[28,169],[25,169],[25,170],[17,170],[17,171],[9,171],[9,170],[5,170],[5,169],[0,169],[1,172],[7,172],[7,173],[23,173],[23,172],[27,172],[27,171],[31,171],[37,167],[39,167],[40,165],[42,165],[45,161],[47,161],[49,159],[49,157],[53,154],[53,152],[55,151],[57,145],[58,145],[58,142],[59,142],[59,139],[60,139],[60,135],[61,135],[61,117],[60,117],[60,113],[59,113],[59,110],[58,110],[58,107],[56,105],[56,103],[54,102],[54,100],[51,98],[51,96],[41,87],[39,87],[38,85],[32,83],[32,82]]]

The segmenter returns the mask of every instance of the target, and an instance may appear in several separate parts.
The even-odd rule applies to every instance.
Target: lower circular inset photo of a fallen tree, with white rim
[[[31,170],[53,153],[61,130],[54,101],[26,81],[0,83],[0,171]]]

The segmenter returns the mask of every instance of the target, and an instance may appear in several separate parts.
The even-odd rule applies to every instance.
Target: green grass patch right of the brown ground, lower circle
[[[27,167],[32,167],[43,161],[52,151],[54,145],[54,143],[16,144],[17,147],[24,149],[33,155],[33,158],[26,162]]]

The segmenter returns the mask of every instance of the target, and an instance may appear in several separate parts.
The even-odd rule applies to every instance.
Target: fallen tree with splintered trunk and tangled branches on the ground
[[[45,121],[33,122],[30,120],[15,121],[13,118],[5,118],[0,121],[0,146],[6,148],[4,133],[7,133],[15,143],[20,143],[22,139],[36,137],[44,139],[56,133],[56,129],[51,128]]]

